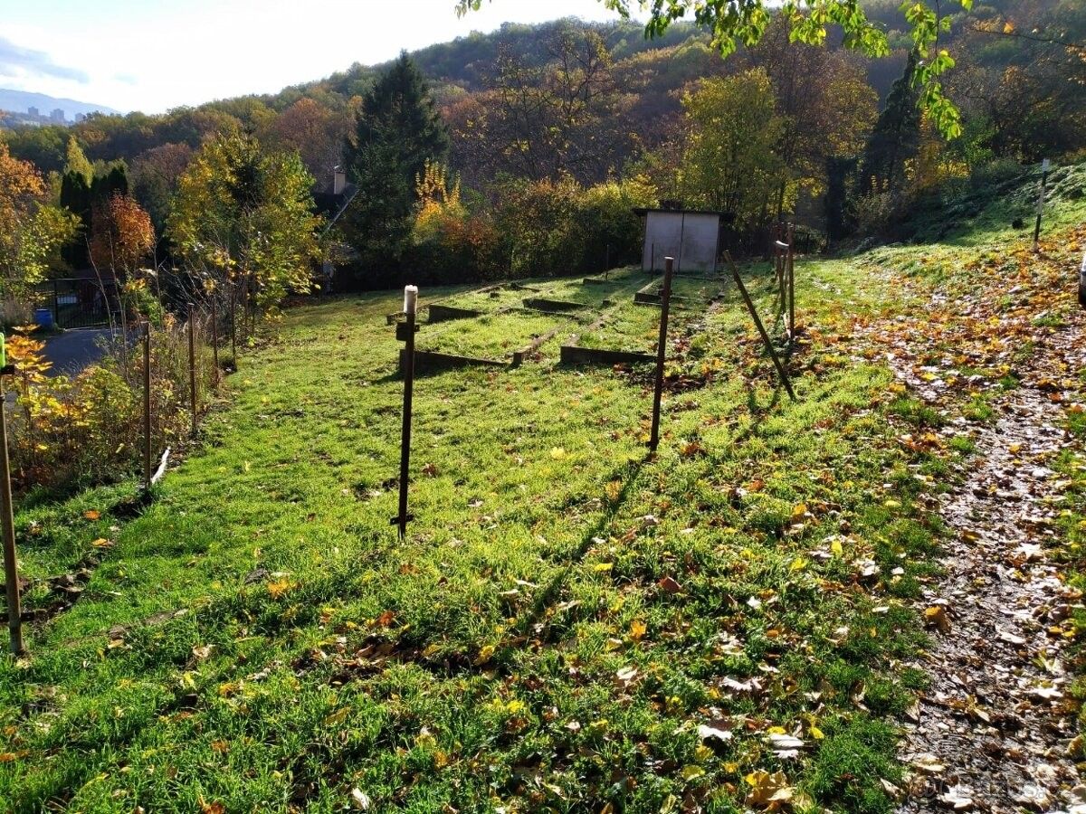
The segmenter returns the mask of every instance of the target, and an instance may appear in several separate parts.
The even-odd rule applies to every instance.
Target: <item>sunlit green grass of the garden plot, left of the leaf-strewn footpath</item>
[[[421,378],[404,544],[396,301],[290,311],[144,513],[118,517],[122,484],[21,516],[30,576],[100,563],[33,656],[0,663],[0,799],[729,811],[787,786],[887,810],[886,715],[919,681],[905,600],[938,531],[921,493],[947,463],[900,442],[893,421],[926,417],[848,336],[909,307],[871,265],[801,266],[796,404],[734,292],[693,335],[681,319],[655,459],[645,371],[558,367],[564,332],[515,371]],[[523,318],[450,335],[489,352],[541,328]],[[730,735],[703,740],[706,723]],[[783,733],[798,756],[773,753]]]

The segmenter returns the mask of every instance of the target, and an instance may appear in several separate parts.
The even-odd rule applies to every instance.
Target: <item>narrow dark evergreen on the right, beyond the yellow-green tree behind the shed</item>
[[[913,82],[915,54],[909,54],[905,73],[894,81],[886,109],[879,114],[863,150],[861,189],[895,192],[905,178],[905,162],[920,143],[920,110]]]

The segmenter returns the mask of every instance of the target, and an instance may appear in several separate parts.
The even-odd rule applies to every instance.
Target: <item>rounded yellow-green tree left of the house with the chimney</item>
[[[205,289],[240,284],[264,310],[308,291],[320,254],[298,153],[264,152],[251,133],[210,139],[181,174],[167,234]]]

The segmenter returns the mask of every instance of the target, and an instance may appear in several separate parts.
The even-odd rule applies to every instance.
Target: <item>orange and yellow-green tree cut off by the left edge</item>
[[[40,174],[0,142],[0,296],[25,295],[71,239],[75,218],[49,203]]]

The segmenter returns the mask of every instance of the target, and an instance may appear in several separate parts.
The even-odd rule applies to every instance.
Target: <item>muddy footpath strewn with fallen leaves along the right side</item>
[[[1064,623],[1082,598],[1049,558],[1063,484],[1048,466],[1072,442],[1050,391],[1052,379],[1082,367],[1069,358],[1082,353],[1081,336],[1071,327],[1038,347],[992,421],[957,418],[945,431],[968,432],[976,451],[963,483],[940,497],[946,572],[920,606],[932,647],[915,666],[930,686],[900,752],[911,770],[901,812],[1086,814],[1063,656]],[[907,357],[892,360],[898,378],[945,405],[939,380]]]

